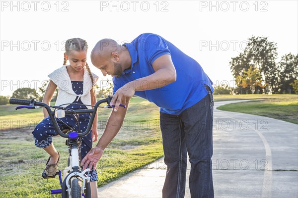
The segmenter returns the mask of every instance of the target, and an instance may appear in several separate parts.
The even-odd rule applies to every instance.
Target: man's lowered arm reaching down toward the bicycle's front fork
[[[83,166],[83,169],[86,169],[87,166],[89,166],[90,169],[92,166],[96,167],[97,161],[100,159],[103,150],[111,143],[120,130],[127,112],[128,103],[129,102],[126,103],[126,108],[121,107],[117,112],[112,111],[97,145],[82,159],[81,166]]]

